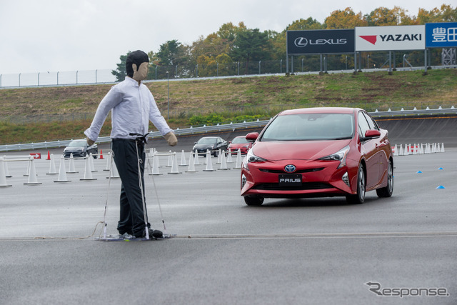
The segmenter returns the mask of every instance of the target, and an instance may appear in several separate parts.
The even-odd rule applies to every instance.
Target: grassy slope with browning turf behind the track
[[[91,116],[112,85],[0,90],[0,144],[55,141],[84,136]],[[457,70],[386,71],[359,74],[253,76],[233,79],[152,81],[146,83],[164,116],[168,89],[172,127],[189,126],[191,116],[217,113],[268,118],[288,108],[360,106],[367,110],[457,104]],[[457,105],[455,105],[457,106]],[[87,114],[76,116],[74,114]],[[66,116],[66,119],[51,117]],[[21,117],[23,123],[14,121]],[[36,118],[40,117],[38,120]],[[42,117],[49,117],[46,121]],[[70,119],[69,119],[70,118]],[[101,136],[109,135],[106,121]],[[153,126],[151,126],[153,129]]]

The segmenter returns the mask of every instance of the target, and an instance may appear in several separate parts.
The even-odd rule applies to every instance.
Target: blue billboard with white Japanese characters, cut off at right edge
[[[457,46],[457,22],[426,24],[427,48],[453,48]]]

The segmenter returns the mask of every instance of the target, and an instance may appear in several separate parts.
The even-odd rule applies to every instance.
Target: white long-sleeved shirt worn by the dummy
[[[84,134],[96,141],[106,116],[111,111],[111,139],[135,139],[129,134],[146,134],[149,120],[159,129],[162,136],[172,131],[164,116],[157,108],[154,96],[143,83],[126,77],[121,83],[112,86],[101,100],[91,126]]]

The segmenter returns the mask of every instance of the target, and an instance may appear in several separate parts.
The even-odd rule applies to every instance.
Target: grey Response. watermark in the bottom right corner
[[[376,281],[365,283],[373,294],[377,296],[449,296],[448,289],[445,287],[383,287]]]

